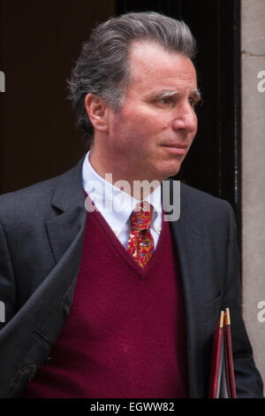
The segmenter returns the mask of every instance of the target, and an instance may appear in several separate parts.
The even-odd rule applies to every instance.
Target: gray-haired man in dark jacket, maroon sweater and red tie
[[[262,397],[231,206],[181,185],[180,218],[164,215],[197,130],[194,53],[188,27],[153,12],[84,44],[70,88],[90,151],[1,196],[1,397],[208,397],[226,307],[238,397]]]

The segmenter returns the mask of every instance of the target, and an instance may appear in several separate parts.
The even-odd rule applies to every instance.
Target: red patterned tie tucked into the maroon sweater
[[[144,201],[136,205],[130,217],[131,233],[127,252],[141,267],[148,264],[154,250],[154,240],[150,232],[152,213],[153,207]]]

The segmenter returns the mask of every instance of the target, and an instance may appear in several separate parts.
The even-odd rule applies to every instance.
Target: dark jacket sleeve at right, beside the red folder
[[[241,311],[241,281],[239,275],[239,250],[234,212],[228,204],[229,236],[227,243],[226,281],[223,308],[230,308],[231,334],[237,396],[263,397],[263,384],[253,358],[253,350],[246,334]]]

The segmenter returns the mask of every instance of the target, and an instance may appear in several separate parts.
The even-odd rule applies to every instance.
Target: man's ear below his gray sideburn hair
[[[85,105],[87,115],[95,130],[107,131],[108,118],[106,117],[107,104],[105,101],[100,96],[89,93],[85,98]]]

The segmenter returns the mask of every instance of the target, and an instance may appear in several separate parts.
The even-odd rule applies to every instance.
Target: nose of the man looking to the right
[[[186,133],[193,133],[197,130],[197,116],[189,102],[178,106],[172,122],[174,130],[184,130]]]

